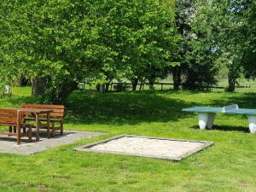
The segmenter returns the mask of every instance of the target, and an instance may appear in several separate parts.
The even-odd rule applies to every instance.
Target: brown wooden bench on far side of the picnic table
[[[43,105],[43,104],[22,104],[21,108],[47,108],[52,109],[54,112],[49,113],[49,122],[50,126],[49,129],[51,129],[52,136],[55,137],[55,131],[60,130],[61,135],[63,133],[63,117],[64,117],[64,106],[63,105]],[[25,114],[23,117],[23,121],[34,121],[35,118],[29,115],[28,113]],[[40,122],[45,122],[47,119],[45,116],[43,118],[40,118]],[[56,126],[56,123],[59,123],[59,126]],[[41,125],[41,129],[47,129],[48,127],[46,125]],[[49,137],[49,131],[48,131],[48,137]]]

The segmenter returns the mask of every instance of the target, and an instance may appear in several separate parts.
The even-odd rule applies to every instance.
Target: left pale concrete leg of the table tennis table
[[[212,129],[215,113],[198,113],[198,125],[201,130]]]

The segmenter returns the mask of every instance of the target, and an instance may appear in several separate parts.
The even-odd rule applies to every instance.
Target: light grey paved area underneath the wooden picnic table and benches
[[[8,154],[34,154],[44,151],[48,148],[55,148],[57,146],[74,143],[84,138],[91,138],[101,136],[103,133],[91,132],[91,131],[64,131],[63,135],[56,135],[55,137],[40,138],[39,142],[28,143],[27,139],[21,139],[21,144],[16,145],[16,137],[4,137],[0,136],[0,153]],[[40,134],[42,136],[42,134]]]

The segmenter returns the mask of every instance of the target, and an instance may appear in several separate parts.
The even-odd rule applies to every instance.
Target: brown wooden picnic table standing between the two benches
[[[10,108],[8,108],[10,109]],[[25,114],[31,114],[36,121],[36,141],[39,141],[40,136],[39,136],[39,131],[40,131],[40,115],[45,114],[46,115],[46,119],[47,119],[47,127],[49,128],[49,113],[54,112],[53,109],[49,109],[49,108],[11,108],[11,109],[15,109],[18,110],[22,113]],[[45,117],[44,117],[45,118]],[[49,129],[48,129],[49,130]]]

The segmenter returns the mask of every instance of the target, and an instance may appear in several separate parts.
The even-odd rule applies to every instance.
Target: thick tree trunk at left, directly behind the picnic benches
[[[32,78],[32,96],[41,96],[48,87],[48,78]]]

